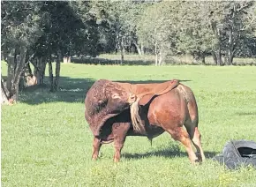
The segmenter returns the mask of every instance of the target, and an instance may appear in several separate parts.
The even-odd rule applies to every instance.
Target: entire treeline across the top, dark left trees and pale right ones
[[[1,79],[4,101],[17,100],[20,86],[44,83],[58,89],[61,62],[70,56],[120,53],[190,54],[205,64],[233,64],[234,56],[256,56],[254,1],[2,1]],[[52,62],[56,62],[53,74]],[[34,66],[34,72],[31,70]]]

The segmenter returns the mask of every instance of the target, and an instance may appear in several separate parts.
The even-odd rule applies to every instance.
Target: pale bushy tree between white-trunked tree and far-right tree
[[[177,6],[176,11],[177,51],[191,54],[194,60],[200,60],[205,64],[205,56],[212,50],[214,40],[208,24],[205,4],[197,1],[183,2]]]

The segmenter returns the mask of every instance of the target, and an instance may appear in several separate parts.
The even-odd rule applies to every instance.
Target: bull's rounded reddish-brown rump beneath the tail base
[[[198,107],[188,86],[179,84],[150,103],[147,113],[151,125],[162,127],[162,121],[182,126],[186,120],[198,122]]]

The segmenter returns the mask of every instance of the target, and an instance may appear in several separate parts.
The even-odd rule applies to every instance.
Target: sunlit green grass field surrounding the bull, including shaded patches
[[[19,103],[2,106],[3,186],[256,186],[256,169],[230,171],[212,161],[230,139],[256,141],[256,67],[62,64],[61,75],[59,92],[30,88]],[[192,166],[166,132],[153,146],[128,137],[117,164],[112,144],[91,161],[84,98],[96,79],[183,80],[198,101],[207,161]]]

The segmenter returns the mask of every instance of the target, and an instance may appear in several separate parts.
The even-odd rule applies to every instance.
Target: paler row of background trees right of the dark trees
[[[104,52],[116,49],[166,56],[190,54],[205,64],[233,64],[234,56],[256,55],[256,6],[253,1],[96,2],[107,30],[100,30]],[[100,12],[99,12],[100,11]],[[115,44],[115,45],[113,45]]]

